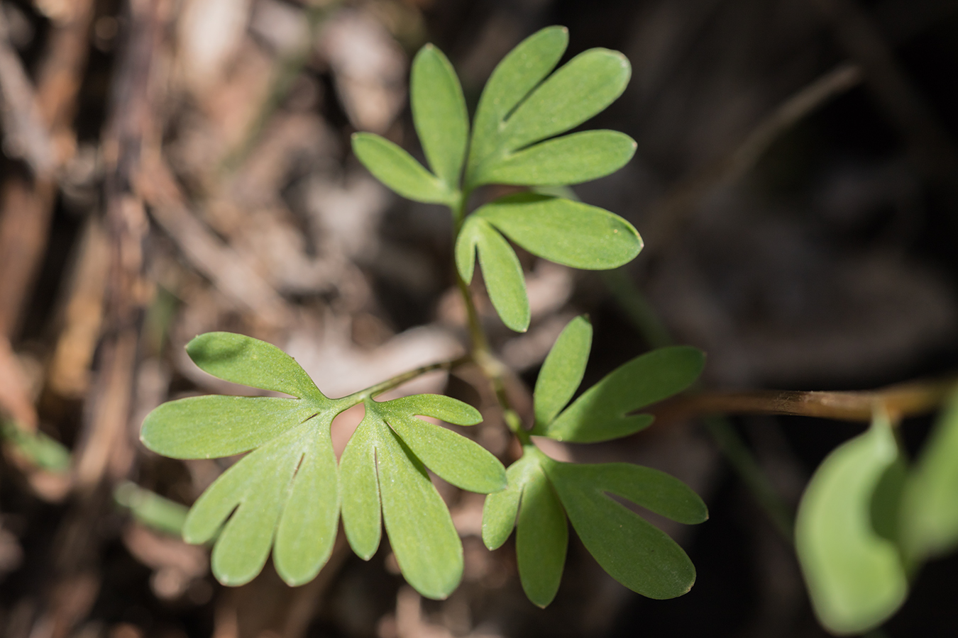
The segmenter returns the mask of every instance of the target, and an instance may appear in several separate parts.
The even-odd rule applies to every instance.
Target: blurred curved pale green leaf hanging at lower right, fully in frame
[[[895,543],[878,535],[872,499],[899,455],[887,417],[830,453],[811,477],[795,520],[795,547],[822,625],[836,634],[877,627],[904,602]]]

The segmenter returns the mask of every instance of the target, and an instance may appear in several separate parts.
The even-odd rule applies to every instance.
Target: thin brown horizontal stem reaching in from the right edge
[[[894,421],[940,407],[956,388],[958,379],[952,378],[890,385],[861,392],[699,392],[665,401],[652,412],[665,421],[707,414],[789,414],[867,422],[872,419],[877,407],[884,407]]]

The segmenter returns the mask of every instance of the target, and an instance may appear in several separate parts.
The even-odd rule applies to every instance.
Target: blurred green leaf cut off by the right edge
[[[910,474],[901,503],[908,556],[924,560],[958,545],[958,392],[939,416]]]

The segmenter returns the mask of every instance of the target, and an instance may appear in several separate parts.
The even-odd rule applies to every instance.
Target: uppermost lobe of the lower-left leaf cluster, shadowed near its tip
[[[266,341],[232,332],[208,332],[187,343],[186,352],[201,370],[234,384],[301,399],[326,398],[296,360]]]

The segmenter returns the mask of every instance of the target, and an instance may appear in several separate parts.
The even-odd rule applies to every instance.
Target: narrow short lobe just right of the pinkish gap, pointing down
[[[343,528],[353,551],[363,561],[376,554],[382,534],[379,481],[376,478],[376,425],[367,409],[339,459]]]

